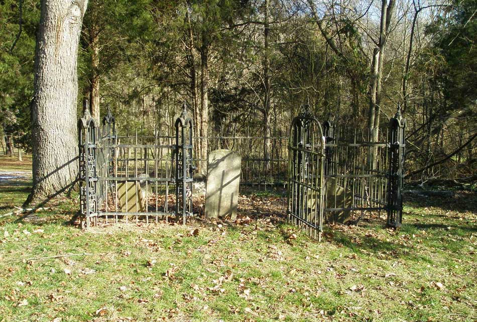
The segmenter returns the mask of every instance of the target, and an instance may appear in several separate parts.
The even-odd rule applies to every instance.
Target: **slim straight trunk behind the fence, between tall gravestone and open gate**
[[[270,168],[270,137],[272,136],[270,127],[270,57],[269,57],[269,0],[265,0],[265,21],[264,21],[264,87],[265,87],[265,99],[263,110],[263,123],[264,123],[264,159],[265,170]]]

